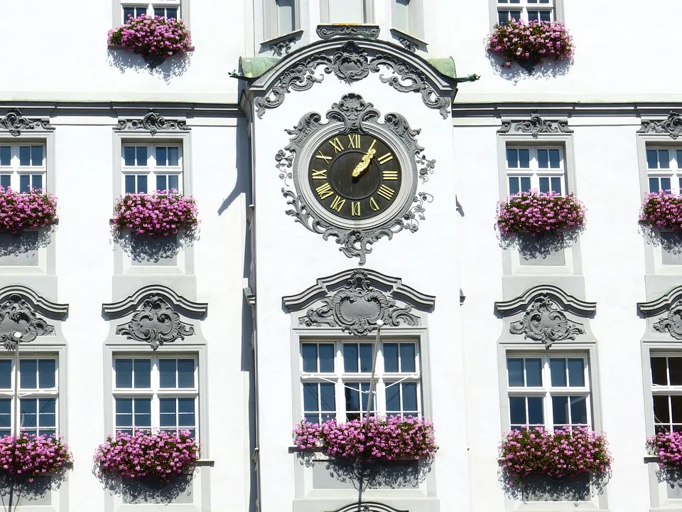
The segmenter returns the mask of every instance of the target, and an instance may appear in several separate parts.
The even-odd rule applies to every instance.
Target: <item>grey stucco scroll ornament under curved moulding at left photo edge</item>
[[[14,336],[16,332],[21,338]],[[18,341],[28,343],[50,334],[55,334],[55,327],[37,316],[21,295],[12,294],[0,304],[0,342],[7,350],[14,350]]]

